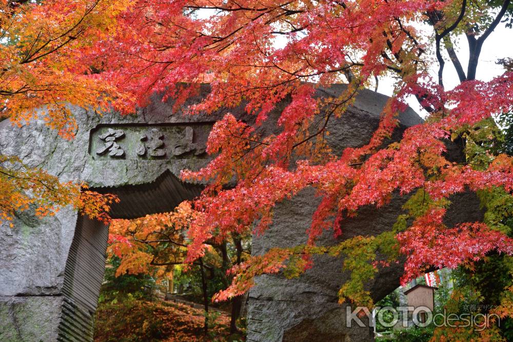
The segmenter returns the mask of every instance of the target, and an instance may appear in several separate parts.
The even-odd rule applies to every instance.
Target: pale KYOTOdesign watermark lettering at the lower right
[[[366,318],[366,319],[365,319]],[[358,307],[352,310],[349,306],[346,308],[346,327],[350,328],[353,324],[360,327],[367,326],[363,320],[368,319],[368,325],[371,327],[379,323],[384,328],[403,327],[411,325],[417,327],[427,327],[434,325],[436,327],[459,327],[473,328],[476,331],[482,331],[489,328],[492,324],[498,324],[500,327],[500,317],[495,313],[433,313],[428,307],[376,307],[370,311],[366,307]]]

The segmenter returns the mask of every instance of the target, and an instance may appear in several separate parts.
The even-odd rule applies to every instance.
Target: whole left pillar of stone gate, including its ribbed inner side
[[[0,238],[0,337],[91,341],[107,227],[72,210],[44,219],[24,214],[14,222]]]

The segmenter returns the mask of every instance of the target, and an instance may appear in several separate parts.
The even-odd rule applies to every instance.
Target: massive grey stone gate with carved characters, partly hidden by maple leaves
[[[318,95],[337,94],[343,87],[319,89]],[[191,101],[207,92],[208,86],[202,87],[202,93]],[[367,143],[378,127],[386,100],[384,95],[362,91],[342,118],[329,122],[330,147],[340,152]],[[285,103],[270,117],[277,118]],[[228,112],[222,109],[211,115],[187,116],[182,110],[173,111],[171,103],[162,103],[156,95],[136,115],[71,110],[78,124],[75,139],[59,138],[43,120],[21,128],[5,120],[0,123],[0,154],[17,155],[62,181],[82,181],[96,191],[118,195],[121,202],[112,207],[114,218],[171,211],[182,200],[197,196],[202,185],[182,183],[180,170],[199,169],[208,163],[208,133],[213,122]],[[254,119],[244,114],[243,106],[229,112],[248,122]],[[408,109],[401,113],[400,122],[394,139],[421,119]],[[268,124],[261,130],[266,134],[275,132],[276,127]],[[461,157],[457,147],[451,153]],[[252,253],[304,243],[318,200],[307,189],[277,206],[271,229],[253,239]],[[468,212],[449,219],[479,219],[472,194],[459,200],[468,203]],[[390,229],[403,203],[404,198],[397,197],[379,210],[362,208],[345,223],[338,241],[326,233],[321,242],[333,244]],[[13,223],[14,228],[0,227],[0,340],[91,341],[108,227],[69,207],[41,219],[30,211],[19,213]],[[338,289],[348,276],[341,259],[319,256],[314,261],[314,268],[298,279],[280,275],[257,279],[249,293],[248,341],[373,340],[368,327],[346,328],[345,307],[337,304]],[[401,265],[380,271],[368,284],[373,298],[380,299],[396,288],[401,271]]]

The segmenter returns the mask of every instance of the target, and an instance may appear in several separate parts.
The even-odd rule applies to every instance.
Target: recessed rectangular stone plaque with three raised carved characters
[[[186,159],[206,156],[211,123],[101,125],[91,130],[93,159]]]

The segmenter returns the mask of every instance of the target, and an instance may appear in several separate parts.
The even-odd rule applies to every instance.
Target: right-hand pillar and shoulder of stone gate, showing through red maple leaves
[[[328,144],[336,153],[345,147],[360,147],[367,144],[372,132],[378,127],[379,114],[387,97],[364,91],[354,106],[340,119],[328,124]],[[400,139],[409,126],[421,122],[420,117],[408,109],[401,113],[400,127],[392,140]],[[452,146],[451,146],[452,148]],[[451,157],[461,157],[458,148],[451,149]],[[344,220],[342,236],[333,238],[326,231],[318,240],[319,245],[329,246],[357,235],[377,235],[390,230],[401,213],[406,197],[393,197],[390,203],[377,209],[367,206],[354,218]],[[260,237],[253,237],[252,254],[260,255],[273,247],[290,247],[306,243],[306,230],[311,224],[312,214],[320,199],[313,189],[306,189],[290,200],[285,200],[274,211],[271,228]],[[455,224],[479,220],[482,214],[478,200],[473,194],[454,198],[458,210],[448,210],[448,222]],[[466,210],[461,210],[465,204]],[[373,334],[369,328],[346,327],[345,306],[338,302],[338,291],[349,274],[342,269],[343,258],[327,255],[315,256],[314,266],[297,279],[285,279],[281,275],[262,275],[249,292],[248,341],[370,341]],[[367,289],[374,300],[379,300],[399,286],[403,273],[401,264],[381,269],[369,280]],[[319,336],[319,339],[312,336]]]

